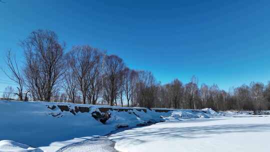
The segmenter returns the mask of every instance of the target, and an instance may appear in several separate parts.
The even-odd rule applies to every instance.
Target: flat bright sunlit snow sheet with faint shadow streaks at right
[[[270,117],[189,118],[111,134],[119,151],[269,151]]]

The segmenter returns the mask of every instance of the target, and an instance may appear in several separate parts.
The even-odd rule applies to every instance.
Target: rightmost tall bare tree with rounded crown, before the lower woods
[[[104,58],[104,76],[105,76],[105,99],[110,105],[116,100],[116,94],[121,87],[121,76],[123,74],[124,63],[116,55],[105,56]],[[116,102],[115,102],[116,103]]]

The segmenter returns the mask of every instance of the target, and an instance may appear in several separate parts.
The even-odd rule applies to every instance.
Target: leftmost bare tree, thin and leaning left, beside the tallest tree
[[[20,69],[18,67],[16,57],[15,55],[12,55],[11,51],[8,50],[6,57],[5,57],[5,63],[8,67],[8,70],[11,74],[8,74],[3,68],[2,71],[5,73],[5,75],[14,81],[17,84],[17,92],[15,93],[18,96],[19,100],[23,100],[23,85],[24,85],[24,80],[23,76],[20,72]]]

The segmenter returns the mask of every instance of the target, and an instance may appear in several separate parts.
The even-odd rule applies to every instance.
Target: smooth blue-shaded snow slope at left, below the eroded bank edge
[[[46,107],[52,104],[60,103],[0,101],[0,139],[39,147],[75,137],[106,134],[115,129],[96,121],[89,113],[73,115]],[[62,116],[54,117],[51,112]]]

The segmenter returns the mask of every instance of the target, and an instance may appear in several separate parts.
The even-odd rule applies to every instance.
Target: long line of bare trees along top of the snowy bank
[[[64,51],[65,44],[50,30],[31,32],[20,46],[24,52],[22,67],[11,51],[5,58],[9,69],[5,73],[17,84],[19,100],[148,108],[270,109],[270,83],[251,82],[226,92],[216,84],[198,86],[193,76],[187,84],[174,79],[162,85],[151,72],[130,69],[120,57],[98,48],[77,45]]]

